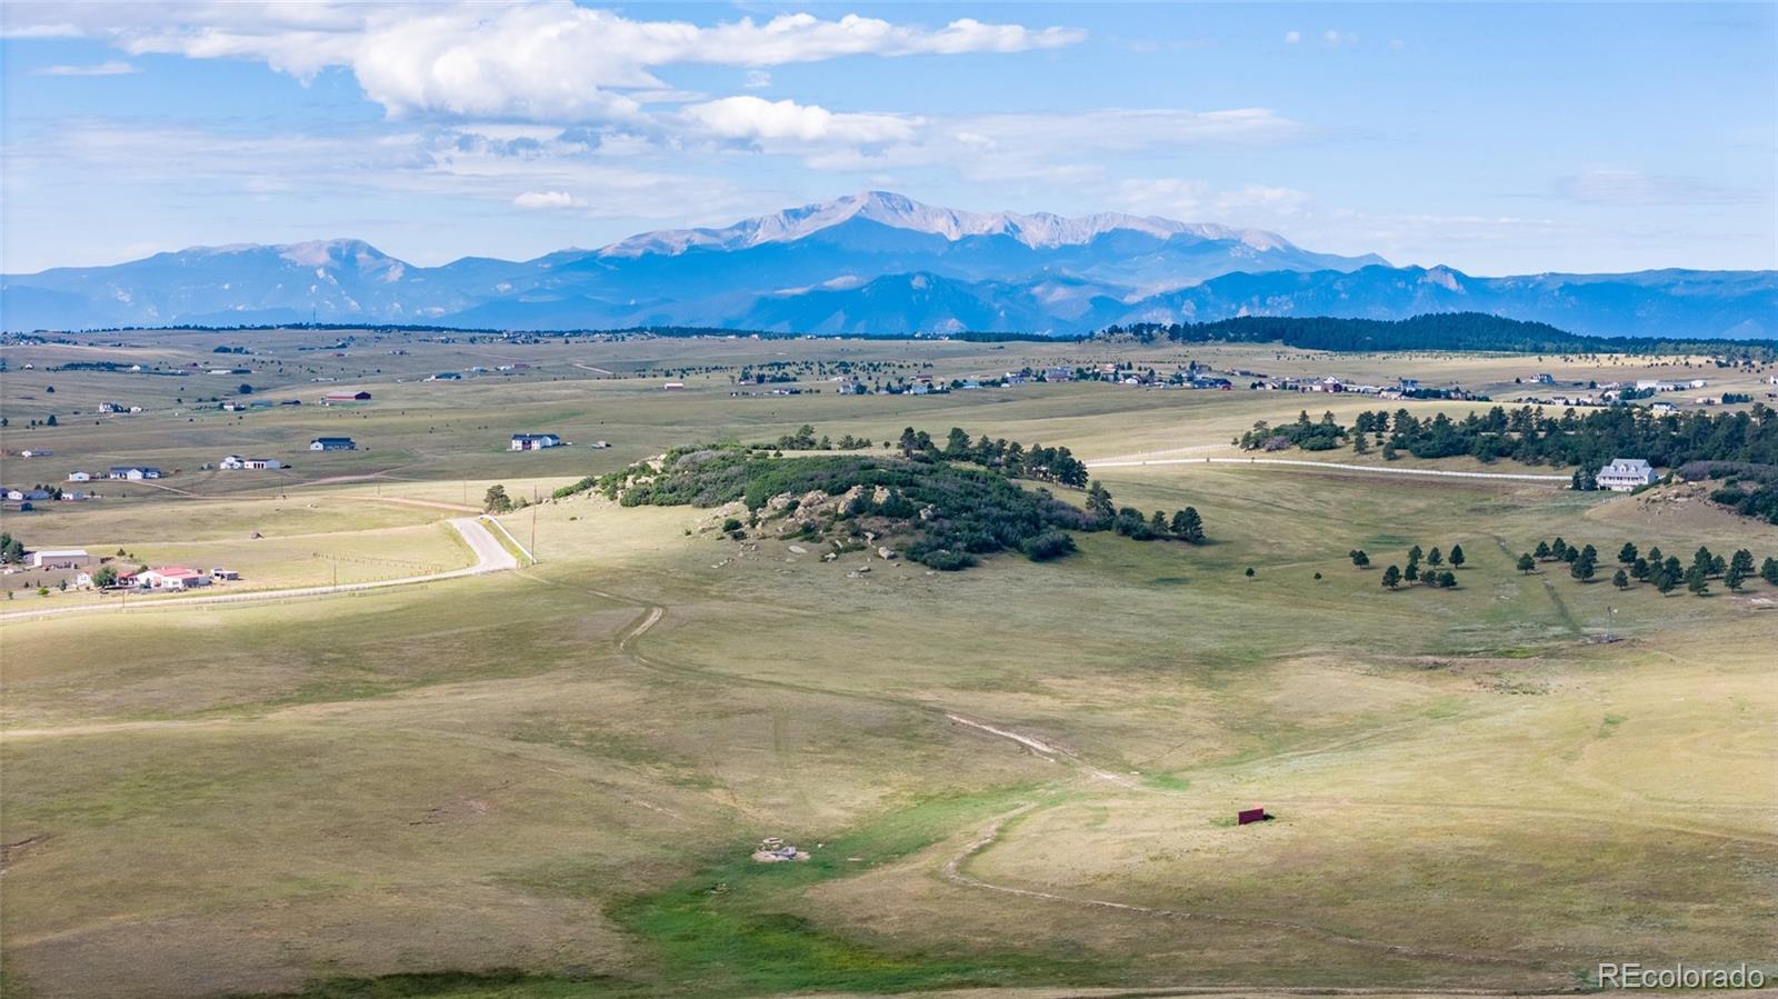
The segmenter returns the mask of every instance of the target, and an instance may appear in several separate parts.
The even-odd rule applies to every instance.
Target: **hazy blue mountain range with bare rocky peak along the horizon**
[[[1241,315],[1479,311],[1595,336],[1778,336],[1778,272],[1476,277],[1157,217],[958,212],[868,192],[720,229],[414,267],[361,240],[224,245],[0,276],[0,327],[695,325],[813,334],[1090,332]]]

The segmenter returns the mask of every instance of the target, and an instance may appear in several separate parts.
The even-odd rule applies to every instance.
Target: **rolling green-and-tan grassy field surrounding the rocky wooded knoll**
[[[196,359],[204,343],[153,350]],[[233,423],[260,420],[270,441],[357,420],[370,452],[316,459],[325,468],[276,489],[181,471],[167,485],[197,498],[132,487],[9,515],[7,530],[231,567],[261,546],[254,579],[299,583],[322,571],[316,553],[366,572],[461,565],[439,521],[487,485],[548,496],[695,439],[962,425],[1113,457],[1213,448],[1309,402],[1097,384],[761,398],[731,396],[722,373],[686,375],[685,393],[654,384],[693,361],[773,352],[987,373],[1086,359],[1079,345],[400,348],[284,361],[292,379],[343,379],[348,364],[409,377],[363,382],[377,400],[356,414],[304,405]],[[1216,350],[1268,372],[1330,364]],[[20,357],[7,354],[14,370]],[[533,366],[411,379],[498,357]],[[1440,366],[1465,384],[1613,368],[1337,363],[1355,377]],[[57,379],[59,400],[87,391]],[[9,375],[4,391],[25,389]],[[1366,407],[1337,402],[1342,416]],[[57,434],[57,462],[153,450],[183,469],[244,448],[224,443],[222,420],[133,420],[140,430],[119,418],[32,441]],[[18,423],[7,448],[27,446]],[[580,446],[507,453],[514,428]],[[613,446],[583,446],[597,437]],[[329,482],[356,475],[377,478]],[[0,619],[5,992],[1414,994],[1565,990],[1602,960],[1778,971],[1778,590],[1662,597],[1606,581],[1625,540],[1687,560],[1700,544],[1766,556],[1778,528],[1659,492],[1193,464],[1101,478],[1141,510],[1197,507],[1211,544],[1093,533],[1061,562],[937,574],[718,540],[699,530],[708,510],[583,494],[503,517],[535,537],[541,562],[521,571]],[[1604,578],[1513,569],[1554,535],[1595,544]],[[1460,587],[1380,587],[1412,544],[1462,544]],[[1373,569],[1351,567],[1351,547]],[[343,579],[347,560],[327,562]],[[75,599],[91,597],[18,597]],[[1598,640],[1607,620],[1618,642]],[[1236,827],[1243,807],[1275,821]],[[811,860],[749,860],[766,835]]]

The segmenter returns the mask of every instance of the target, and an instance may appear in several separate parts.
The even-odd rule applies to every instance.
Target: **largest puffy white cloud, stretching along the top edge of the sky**
[[[453,4],[16,4],[9,30],[78,34],[130,53],[244,59],[309,80],[354,73],[389,116],[444,114],[528,121],[637,121],[640,92],[669,87],[670,64],[766,68],[845,55],[958,55],[1074,44],[1072,28],[942,28],[848,14],[786,14],[711,27],[637,21],[571,0]]]

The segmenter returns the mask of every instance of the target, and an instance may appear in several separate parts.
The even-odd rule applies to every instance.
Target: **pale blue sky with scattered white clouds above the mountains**
[[[1778,268],[1774,11],[11,2],[0,263],[530,258],[885,188],[1472,274]]]

